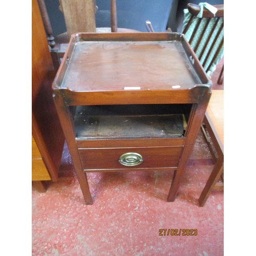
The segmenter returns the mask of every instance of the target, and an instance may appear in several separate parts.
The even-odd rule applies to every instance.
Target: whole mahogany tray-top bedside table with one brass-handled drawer
[[[174,170],[174,201],[210,88],[180,33],[73,35],[53,97],[86,204],[86,173],[131,170]]]

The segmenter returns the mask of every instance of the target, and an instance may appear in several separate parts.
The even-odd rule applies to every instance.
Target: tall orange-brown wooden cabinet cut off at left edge
[[[32,0],[32,181],[56,181],[65,137],[52,99],[55,71],[36,0]]]

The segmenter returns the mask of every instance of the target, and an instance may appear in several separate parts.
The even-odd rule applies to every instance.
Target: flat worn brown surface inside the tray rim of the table
[[[202,84],[181,41],[80,41],[60,88],[72,91],[189,89]]]

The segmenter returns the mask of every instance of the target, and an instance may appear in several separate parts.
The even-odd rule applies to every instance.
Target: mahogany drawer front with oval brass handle
[[[79,154],[84,170],[167,168],[178,166],[182,149],[183,146],[84,148]]]

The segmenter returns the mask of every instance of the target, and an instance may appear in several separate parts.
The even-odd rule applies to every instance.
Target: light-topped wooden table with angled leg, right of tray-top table
[[[201,207],[204,206],[212,189],[214,189],[217,181],[220,179],[224,170],[224,111],[223,111],[224,104],[223,103],[224,103],[224,90],[212,90],[212,96],[210,98],[203,122],[210,135],[210,139],[215,146],[217,156],[215,156],[214,154],[216,159],[215,166],[212,169],[210,177],[207,180],[207,183],[199,198],[199,205]],[[206,135],[204,129],[203,129],[203,132]]]

